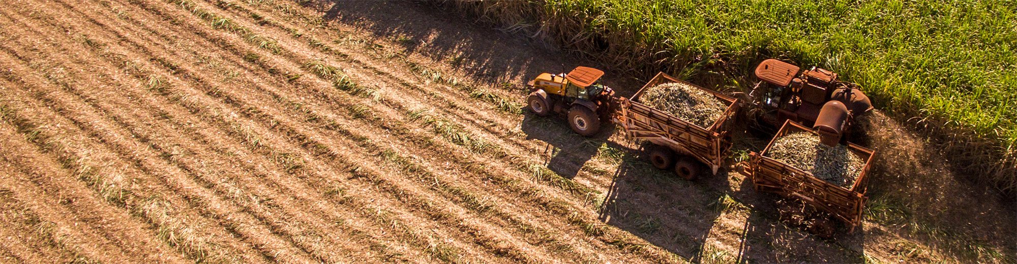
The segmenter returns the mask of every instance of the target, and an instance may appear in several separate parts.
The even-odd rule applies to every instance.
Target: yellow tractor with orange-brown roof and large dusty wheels
[[[551,112],[566,115],[573,131],[584,136],[600,132],[601,120],[610,120],[610,103],[614,90],[599,82],[604,72],[590,67],[576,67],[559,74],[541,73],[527,83],[530,96],[526,102],[537,116]]]

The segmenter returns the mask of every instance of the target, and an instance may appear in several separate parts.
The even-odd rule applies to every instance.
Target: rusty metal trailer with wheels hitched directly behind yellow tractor
[[[640,95],[647,88],[671,82],[684,83],[710,92],[727,105],[727,109],[713,125],[704,128],[640,103]],[[714,175],[717,174],[730,150],[729,130],[739,111],[738,100],[678,80],[663,72],[657,73],[632,98],[619,96],[614,104],[617,104],[618,110],[614,112],[612,121],[625,130],[626,138],[648,140],[658,146],[650,151],[651,163],[661,170],[673,167],[674,172],[686,180],[696,179],[700,162],[709,167]]]

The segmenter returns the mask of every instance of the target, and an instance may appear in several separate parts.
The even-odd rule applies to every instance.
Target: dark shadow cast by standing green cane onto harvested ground
[[[394,40],[407,55],[447,62],[477,81],[513,83],[542,72],[567,71],[581,63],[510,30],[490,28],[466,15],[447,15],[440,5],[408,1],[342,1],[318,3],[325,20],[355,24],[375,38]],[[437,15],[445,14],[445,15]],[[587,66],[589,62],[586,62]],[[601,67],[603,68],[603,67]],[[522,86],[522,85],[516,85]]]

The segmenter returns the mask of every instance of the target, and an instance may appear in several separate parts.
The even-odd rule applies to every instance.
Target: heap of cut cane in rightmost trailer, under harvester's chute
[[[828,146],[820,142],[820,137],[809,132],[794,132],[777,138],[767,156],[813,174],[828,183],[848,187],[861,174],[865,162],[838,144]]]

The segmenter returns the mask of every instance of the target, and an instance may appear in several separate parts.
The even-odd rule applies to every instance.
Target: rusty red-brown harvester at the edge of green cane
[[[785,120],[791,120],[813,127],[820,131],[824,143],[836,145],[852,118],[868,113],[873,106],[857,84],[839,81],[837,73],[818,67],[800,69],[775,59],[756,67],[761,81],[750,93],[757,109],[756,127],[775,132]]]

